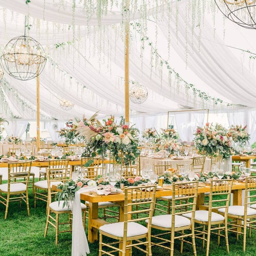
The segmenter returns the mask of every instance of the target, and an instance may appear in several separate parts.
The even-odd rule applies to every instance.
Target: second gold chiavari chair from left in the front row
[[[152,218],[152,228],[163,230],[164,233],[151,235],[158,243],[152,245],[160,246],[167,250],[170,250],[170,255],[174,253],[174,241],[175,239],[181,240],[180,252],[183,252],[183,243],[192,244],[194,255],[196,255],[196,243],[195,243],[195,230],[194,230],[194,217],[196,210],[197,199],[197,181],[189,181],[186,183],[173,182],[172,183],[172,214],[164,214],[154,216]],[[185,210],[185,211],[184,211]],[[181,216],[183,214],[190,214],[191,220]],[[184,231],[188,230],[186,234]],[[179,236],[175,237],[175,233]],[[170,234],[171,239],[162,237]],[[185,240],[185,237],[191,237],[192,243]],[[164,245],[167,244],[167,245]],[[171,244],[171,246],[169,245]]]

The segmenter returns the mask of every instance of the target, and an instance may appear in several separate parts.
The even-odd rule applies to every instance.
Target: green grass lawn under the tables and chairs
[[[45,228],[45,208],[46,204],[38,201],[36,209],[33,207],[34,200],[32,191],[29,194],[30,217],[27,216],[26,205],[23,203],[21,209],[19,204],[14,202],[9,206],[8,218],[4,220],[5,206],[0,204],[0,255],[1,256],[68,256],[71,255],[71,233],[59,235],[59,244],[55,246],[55,230],[49,225],[46,238],[44,238]],[[157,213],[157,212],[156,212]],[[100,215],[102,212],[100,212]],[[67,218],[61,216],[60,220]],[[155,230],[152,230],[156,233]],[[87,232],[86,232],[87,234]],[[168,237],[169,238],[169,237]],[[252,230],[252,237],[247,236],[246,252],[243,252],[243,238],[240,236],[236,241],[235,234],[229,233],[229,250],[231,256],[252,256],[256,254],[256,230]],[[197,255],[205,255],[202,249],[202,240],[196,240]],[[89,244],[90,256],[98,255],[99,243]],[[180,242],[175,241],[174,255],[180,255]],[[153,255],[169,255],[169,251],[153,246]],[[145,255],[143,252],[133,249],[133,255]],[[184,256],[193,255],[192,246],[184,244]],[[217,246],[217,237],[211,236],[210,255],[224,256],[226,252],[225,239],[221,237],[220,246]]]

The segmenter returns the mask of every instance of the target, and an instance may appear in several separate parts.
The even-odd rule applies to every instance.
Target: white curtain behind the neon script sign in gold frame
[[[204,113],[185,112],[175,114],[176,128],[182,141],[192,141],[197,126],[204,124]]]

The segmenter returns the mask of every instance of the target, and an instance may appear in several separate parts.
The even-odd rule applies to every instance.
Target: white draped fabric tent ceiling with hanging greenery
[[[173,1],[171,12],[163,14],[161,12],[170,7],[168,3],[171,1],[160,1],[163,6],[160,8],[159,4],[156,8],[155,1],[148,0],[151,4],[148,5],[146,19],[135,7],[131,9],[131,23],[133,20],[139,26],[145,23],[147,30],[145,26],[143,29],[140,26],[139,32],[137,28],[130,27],[130,79],[144,84],[149,94],[148,100],[141,105],[131,102],[134,120],[140,114],[156,116],[156,113],[187,108],[210,108],[230,113],[237,105],[244,105],[245,109],[256,108],[255,96],[251,93],[256,86],[253,63],[248,55],[244,55],[246,53],[242,53],[242,59],[241,51],[226,46],[231,44],[243,49],[249,42],[246,45],[256,52],[255,45],[250,42],[252,31],[245,31],[229,20],[223,28],[223,17],[218,11],[214,14],[215,23],[212,14],[205,12],[203,22],[196,26],[202,18],[199,12],[196,22],[190,17],[188,11],[192,1]],[[33,0],[27,6],[25,1],[0,0],[3,7],[0,9],[3,16],[0,45],[3,48],[12,37],[24,33],[24,15],[29,15],[28,20],[32,24],[29,35],[40,41],[48,56],[40,76],[42,120],[90,116],[98,110],[100,118],[109,114],[120,116],[124,113],[122,12],[113,6],[107,15],[102,14],[99,27],[97,13],[92,13],[88,19],[84,6],[79,1],[75,2],[73,11],[73,1],[62,6],[59,1]],[[139,6],[142,2],[138,1]],[[156,13],[162,15],[162,19],[157,20]],[[228,34],[227,43],[223,41],[223,30]],[[141,43],[145,37],[147,39]],[[159,55],[154,54],[155,50]],[[192,89],[186,89],[177,76],[172,76],[173,72],[170,76],[163,60],[168,61],[179,77],[188,84],[194,84],[196,89],[237,105],[228,108],[225,104],[215,105],[211,100],[195,96]],[[4,77],[6,80],[2,85],[6,82],[2,86],[3,93],[0,93],[3,114],[9,119],[14,116],[35,119],[36,80],[23,82],[6,74]],[[74,102],[74,109],[61,109],[60,98]],[[12,113],[8,113],[8,106]],[[146,125],[147,120],[144,123]]]

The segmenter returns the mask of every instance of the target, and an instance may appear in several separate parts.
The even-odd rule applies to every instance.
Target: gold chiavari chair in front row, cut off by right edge
[[[249,228],[249,237],[251,237],[251,230],[256,229],[256,177],[247,177],[245,180],[244,206],[232,205],[228,207],[228,218],[236,219],[228,222],[231,228],[228,231],[236,233],[236,240],[239,234],[243,235],[243,250],[245,252],[246,246],[246,231]],[[248,202],[248,200],[250,202]],[[219,209],[219,213],[223,214],[224,209]],[[226,212],[225,212],[226,213]],[[242,224],[243,221],[243,224]],[[241,231],[243,229],[243,231]]]

